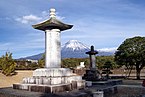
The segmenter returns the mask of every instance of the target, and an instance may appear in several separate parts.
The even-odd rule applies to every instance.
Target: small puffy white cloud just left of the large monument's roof
[[[18,22],[21,22],[23,24],[28,24],[28,23],[31,23],[31,22],[39,21],[41,19],[42,19],[41,17],[38,17],[38,16],[35,16],[35,15],[31,14],[31,15],[23,16],[21,18],[16,18],[15,20],[18,21]]]

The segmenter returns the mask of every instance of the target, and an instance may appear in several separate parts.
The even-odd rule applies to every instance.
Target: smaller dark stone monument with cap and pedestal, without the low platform
[[[96,54],[97,51],[94,50],[94,46],[91,46],[91,50],[86,52],[90,58],[89,70],[86,70],[86,73],[83,76],[83,79],[86,81],[98,81],[99,80],[99,71],[96,67]]]

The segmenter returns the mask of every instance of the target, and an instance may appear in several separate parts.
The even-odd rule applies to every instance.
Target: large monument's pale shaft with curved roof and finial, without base
[[[60,32],[71,29],[73,25],[64,24],[56,19],[55,9],[50,9],[50,19],[32,25],[33,28],[45,31],[45,68],[61,67]]]

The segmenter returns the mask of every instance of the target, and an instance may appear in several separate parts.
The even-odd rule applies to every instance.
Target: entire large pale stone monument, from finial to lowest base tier
[[[13,84],[14,89],[36,92],[62,92],[83,88],[85,81],[69,68],[61,68],[61,31],[73,25],[56,19],[55,9],[50,9],[50,19],[32,25],[34,29],[45,31],[45,68],[33,71],[33,76],[24,78],[22,83]]]

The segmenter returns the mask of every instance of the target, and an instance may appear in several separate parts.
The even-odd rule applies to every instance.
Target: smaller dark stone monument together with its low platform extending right
[[[95,55],[98,54],[98,52],[94,50],[94,46],[91,46],[91,50],[86,52],[86,54],[88,54],[90,58],[90,67],[88,70],[86,70],[86,73],[82,77],[84,80],[86,80],[86,86],[102,86],[106,87],[106,90],[109,90],[110,88],[114,88],[114,85],[122,83],[122,80],[106,80],[102,78],[96,66]],[[108,86],[109,88],[107,89]],[[105,89],[103,91],[105,91]]]

